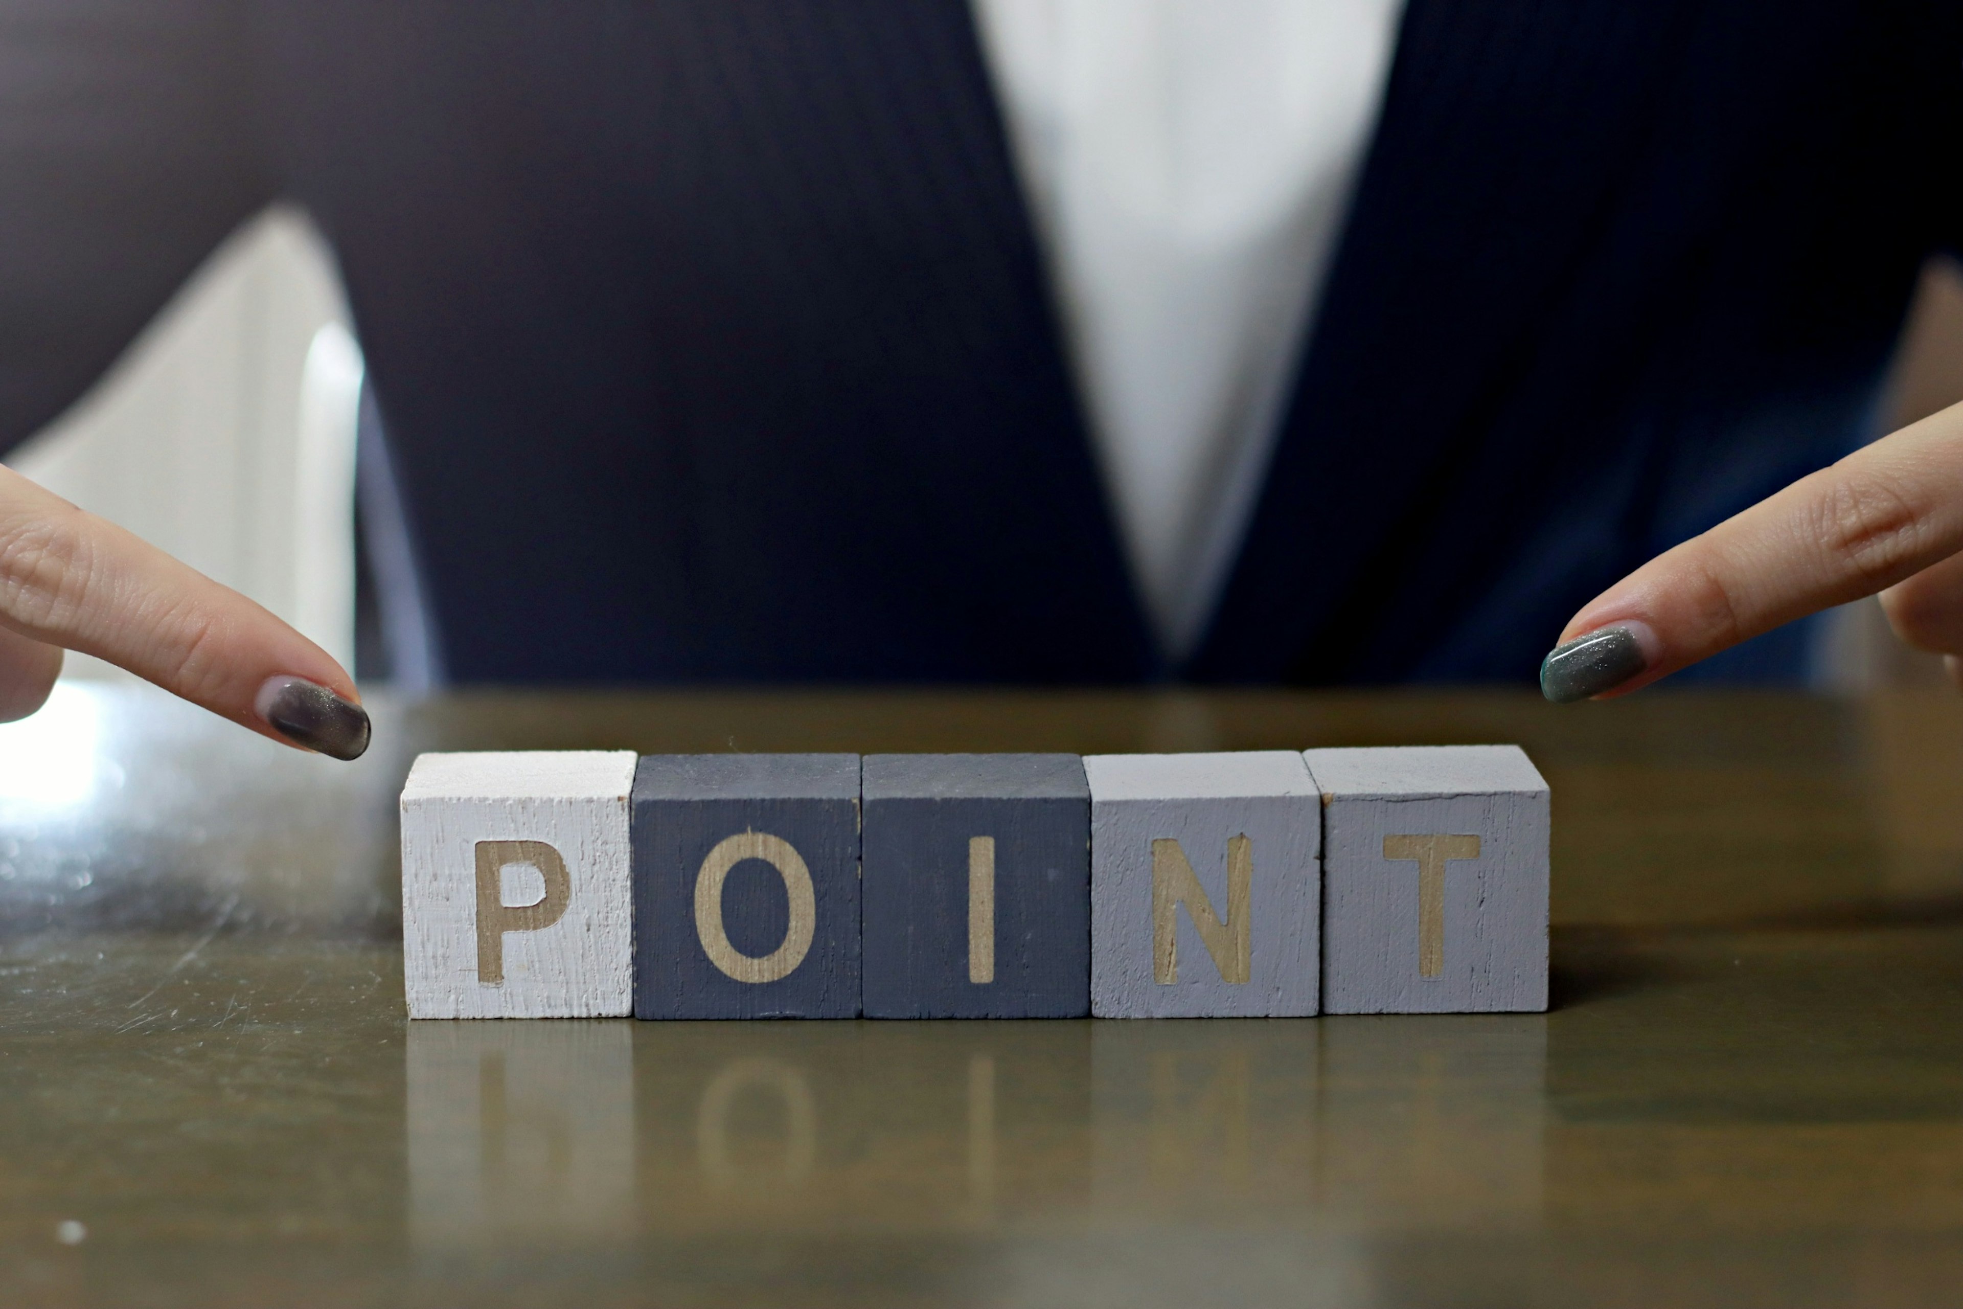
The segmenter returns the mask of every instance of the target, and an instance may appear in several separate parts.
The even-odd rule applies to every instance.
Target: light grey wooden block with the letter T
[[[1547,1009],[1547,781],[1519,746],[1309,750],[1323,1011]]]

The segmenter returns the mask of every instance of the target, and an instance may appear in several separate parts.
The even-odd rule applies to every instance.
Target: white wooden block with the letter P
[[[410,1019],[632,1011],[626,750],[426,754],[402,787]]]

